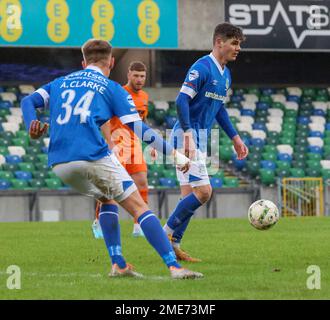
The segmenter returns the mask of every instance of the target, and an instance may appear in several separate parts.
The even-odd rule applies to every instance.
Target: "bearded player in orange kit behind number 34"
[[[131,95],[142,121],[148,115],[148,94],[142,90],[146,83],[147,68],[140,61],[133,61],[128,67],[128,82],[123,88]],[[103,135],[111,150],[116,154],[120,163],[134,180],[139,193],[145,203],[148,203],[147,164],[139,138],[119,118],[114,117],[102,127]],[[151,156],[157,157],[156,150]],[[102,238],[102,231],[98,224],[99,203],[96,206],[96,219],[93,222],[93,233],[96,238]],[[143,236],[142,229],[134,221],[133,236]]]

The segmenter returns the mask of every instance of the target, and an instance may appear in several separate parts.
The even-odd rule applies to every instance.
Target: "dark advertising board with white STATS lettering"
[[[330,0],[225,0],[248,49],[330,50]]]

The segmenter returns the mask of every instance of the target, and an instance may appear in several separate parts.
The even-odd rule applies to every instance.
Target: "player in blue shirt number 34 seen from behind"
[[[142,200],[116,156],[108,150],[100,127],[117,116],[143,141],[174,157],[180,170],[186,171],[190,160],[143,123],[131,96],[118,83],[108,79],[113,66],[108,42],[88,40],[82,53],[83,70],[57,78],[22,100],[24,122],[30,137],[38,139],[47,131],[48,125],[37,120],[36,109],[49,108],[48,164],[65,184],[102,203],[99,222],[112,263],[109,276],[142,276],[126,263],[122,254],[119,203],[137,219],[172,278],[202,277],[201,273],[178,264],[160,221]]]

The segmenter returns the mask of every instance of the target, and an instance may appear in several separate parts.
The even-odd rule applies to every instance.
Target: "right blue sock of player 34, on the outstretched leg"
[[[158,218],[152,213],[152,211],[148,210],[143,213],[138,218],[138,222],[146,239],[158,252],[165,264],[168,267],[173,266],[176,268],[181,268],[176,261],[176,256],[170,241],[168,240]]]

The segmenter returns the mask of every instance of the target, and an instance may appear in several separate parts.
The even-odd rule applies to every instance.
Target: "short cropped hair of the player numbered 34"
[[[89,39],[81,47],[81,52],[87,64],[102,62],[111,55],[112,47],[105,40]]]

